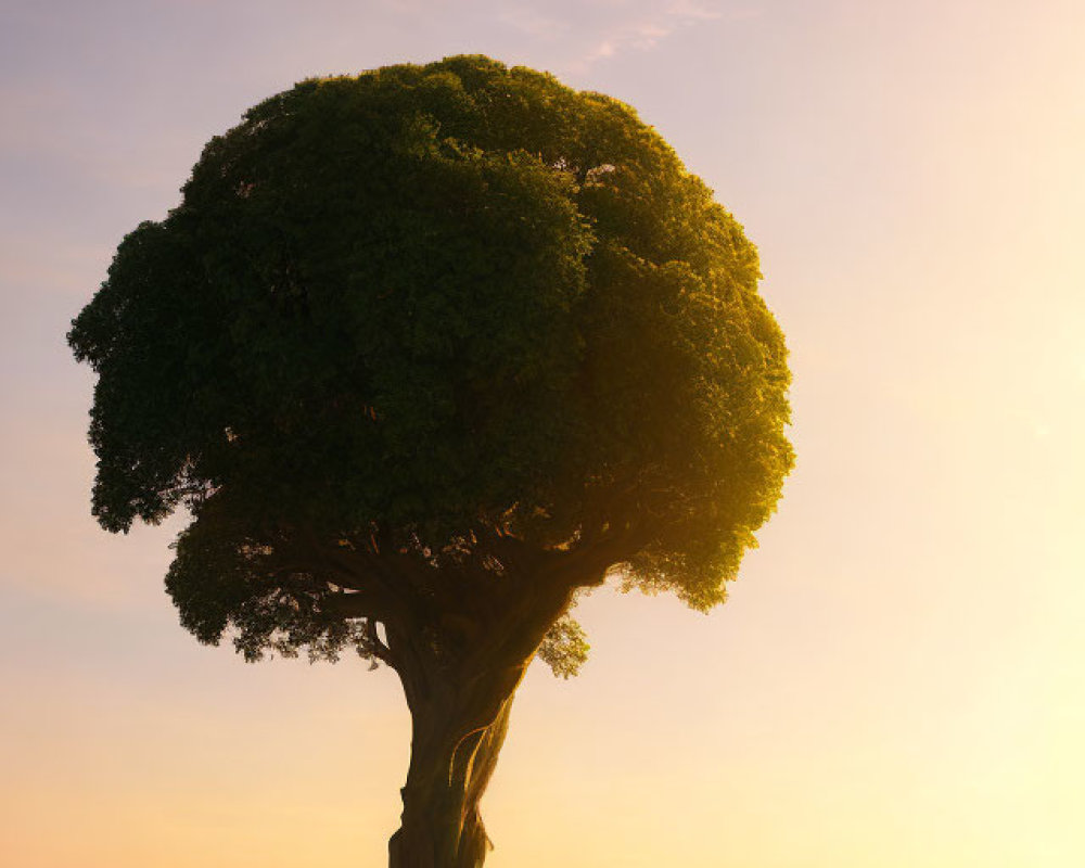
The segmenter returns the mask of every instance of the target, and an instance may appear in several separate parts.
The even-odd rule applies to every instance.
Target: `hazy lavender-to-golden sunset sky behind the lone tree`
[[[604,588],[533,666],[493,868],[1085,864],[1085,7],[0,0],[0,863],[379,868],[392,673],[177,623],[89,514],[64,344],[203,143],[303,78],[486,53],[634,105],[743,224],[797,465],[709,615]]]

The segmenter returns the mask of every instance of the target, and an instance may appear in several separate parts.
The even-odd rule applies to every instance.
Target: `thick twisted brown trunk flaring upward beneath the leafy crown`
[[[601,571],[600,571],[601,575]],[[411,712],[411,760],[391,868],[481,868],[490,848],[478,803],[509,726],[512,697],[576,584],[537,569],[493,578],[474,609],[424,610],[386,624],[387,660]]]

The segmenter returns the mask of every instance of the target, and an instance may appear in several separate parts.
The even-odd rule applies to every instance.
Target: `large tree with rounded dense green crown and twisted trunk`
[[[579,590],[724,599],[791,462],[757,256],[627,105],[483,56],[304,81],[215,137],[68,335],[93,512],[178,507],[166,587],[247,660],[344,649],[412,716],[394,868],[478,801]]]

